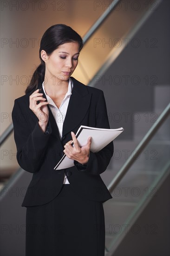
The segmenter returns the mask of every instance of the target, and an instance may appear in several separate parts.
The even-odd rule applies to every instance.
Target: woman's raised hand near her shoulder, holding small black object
[[[39,104],[37,104],[39,101]],[[33,94],[30,95],[30,109],[39,119],[39,126],[43,132],[46,131],[48,118],[49,118],[49,111],[47,107],[48,102],[46,98],[43,98],[43,94],[39,93],[39,89],[37,89]]]

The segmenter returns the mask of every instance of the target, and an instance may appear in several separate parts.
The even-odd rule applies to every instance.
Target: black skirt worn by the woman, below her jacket
[[[26,209],[26,256],[104,256],[102,202],[63,185],[51,202]]]

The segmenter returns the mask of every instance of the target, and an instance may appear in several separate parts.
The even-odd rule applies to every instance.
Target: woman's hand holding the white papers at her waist
[[[89,160],[89,153],[90,153],[90,145],[92,142],[92,138],[89,137],[87,140],[87,144],[83,147],[80,147],[78,145],[78,140],[73,132],[72,134],[72,141],[68,141],[65,146],[64,146],[64,153],[65,155],[72,159],[75,160],[81,164],[85,164]],[[72,147],[72,142],[74,143],[74,147]]]

